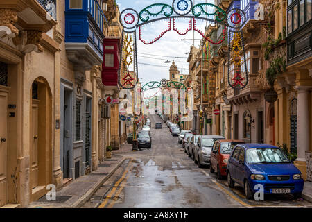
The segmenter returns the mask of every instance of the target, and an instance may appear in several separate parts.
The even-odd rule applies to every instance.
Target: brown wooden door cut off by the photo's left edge
[[[8,93],[0,88],[0,207],[6,205],[8,200],[7,182],[7,117]]]

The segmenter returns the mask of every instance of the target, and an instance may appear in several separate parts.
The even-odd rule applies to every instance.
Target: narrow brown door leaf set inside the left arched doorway
[[[38,116],[39,116],[39,101],[33,99],[33,107],[31,110],[31,185],[32,189],[39,185],[38,183]]]

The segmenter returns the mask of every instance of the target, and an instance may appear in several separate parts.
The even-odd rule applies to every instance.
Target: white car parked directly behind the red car
[[[194,150],[194,162],[198,167],[210,165],[211,148],[218,139],[225,139],[219,135],[201,135],[198,139],[198,146]]]

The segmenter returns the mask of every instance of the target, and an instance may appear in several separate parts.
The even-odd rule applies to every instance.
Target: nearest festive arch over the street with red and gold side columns
[[[123,26],[123,53],[122,58],[128,66],[134,65],[133,71],[137,76],[137,31],[139,33],[139,40],[144,44],[153,44],[162,38],[168,31],[175,31],[179,35],[186,35],[189,31],[197,31],[202,35],[209,44],[221,44],[226,40],[228,36],[228,68],[230,69],[231,62],[237,69],[241,69],[241,66],[245,66],[245,71],[230,77],[228,76],[229,86],[233,89],[243,89],[248,84],[248,71],[246,69],[247,62],[245,58],[245,49],[243,43],[243,33],[241,28],[245,25],[246,15],[243,10],[239,8],[232,8],[225,12],[223,9],[215,6],[211,3],[198,3],[193,5],[191,0],[173,0],[172,5],[166,3],[153,3],[147,6],[140,12],[132,8],[127,8],[121,12],[120,22]],[[164,22],[164,26],[159,28],[158,35],[150,37],[150,35],[144,35],[150,28],[155,28],[156,22]],[[200,22],[211,22],[214,24],[220,24],[223,26],[222,37],[217,41],[211,40],[210,37],[205,35],[205,31],[200,30],[198,25]],[[130,38],[130,36],[132,39]],[[149,38],[149,39],[148,39]],[[131,43],[133,41],[133,47]],[[206,46],[207,52],[209,51],[209,44]],[[132,49],[132,53],[130,53]],[[230,59],[232,53],[232,59]],[[208,56],[209,53],[207,53]],[[131,60],[130,58],[133,59]],[[129,63],[127,63],[129,62]],[[119,72],[119,76],[120,76]],[[173,83],[172,83],[173,84]],[[133,89],[134,86],[122,85],[123,89]],[[146,87],[159,87],[162,86],[162,82],[150,82],[146,84]],[[144,91],[146,87],[142,87]],[[170,86],[169,86],[170,87]],[[176,87],[176,86],[173,86]],[[187,89],[187,87],[185,87]]]

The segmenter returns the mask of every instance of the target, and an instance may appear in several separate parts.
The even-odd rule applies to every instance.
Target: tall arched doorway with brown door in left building
[[[30,112],[30,189],[31,201],[46,194],[52,177],[52,94],[42,77],[31,86]]]

